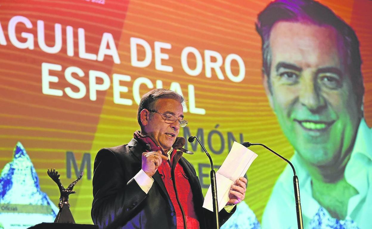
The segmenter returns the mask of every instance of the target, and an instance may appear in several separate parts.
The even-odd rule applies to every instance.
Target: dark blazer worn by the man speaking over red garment
[[[176,229],[173,204],[157,171],[145,194],[132,179],[141,170],[145,148],[135,139],[127,145],[101,149],[94,161],[92,219],[99,228]],[[201,229],[213,227],[213,212],[202,208],[203,194],[195,169],[185,158],[179,164],[189,178]],[[129,183],[128,183],[129,181]],[[127,184],[128,183],[128,184]],[[235,211],[219,213],[222,225]]]

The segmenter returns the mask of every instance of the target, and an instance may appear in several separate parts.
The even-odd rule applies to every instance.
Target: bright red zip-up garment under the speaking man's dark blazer
[[[174,149],[171,153],[170,160],[173,161],[173,157],[176,154]],[[171,166],[168,161],[163,160],[161,165],[158,167],[161,178],[163,179],[164,185],[169,194],[170,200],[173,203],[174,210],[176,212],[177,229],[183,229],[183,217],[181,208],[176,199],[176,192],[174,190],[173,181],[171,179]],[[182,166],[179,163],[176,164],[174,169],[174,178],[178,193],[178,199],[180,200],[181,206],[186,216],[187,229],[199,229],[199,221],[196,219],[194,210],[194,203],[192,200],[192,192],[188,178],[183,171]]]

